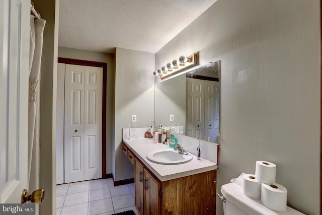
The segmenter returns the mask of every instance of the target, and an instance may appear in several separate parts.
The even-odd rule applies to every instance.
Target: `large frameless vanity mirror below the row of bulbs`
[[[156,83],[154,126],[218,143],[219,76],[218,60]]]

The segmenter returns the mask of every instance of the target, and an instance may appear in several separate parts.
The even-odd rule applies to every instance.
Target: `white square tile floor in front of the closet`
[[[112,178],[56,186],[57,215],[108,215],[134,210],[134,183],[114,187]]]

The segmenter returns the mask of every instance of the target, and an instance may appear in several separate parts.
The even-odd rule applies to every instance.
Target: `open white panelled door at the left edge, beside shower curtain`
[[[0,1],[0,203],[28,188],[29,17],[30,1]]]

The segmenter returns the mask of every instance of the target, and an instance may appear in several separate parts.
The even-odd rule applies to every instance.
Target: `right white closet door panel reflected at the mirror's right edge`
[[[219,131],[219,83],[204,81],[205,86],[205,140],[215,142]]]

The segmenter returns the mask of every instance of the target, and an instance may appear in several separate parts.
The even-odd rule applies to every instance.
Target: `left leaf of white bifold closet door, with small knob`
[[[83,181],[85,66],[65,66],[64,175],[65,183]]]

